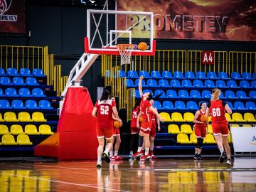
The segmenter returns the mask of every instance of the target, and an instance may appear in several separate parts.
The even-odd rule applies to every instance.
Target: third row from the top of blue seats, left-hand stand
[[[0,88],[0,97],[46,97],[41,88],[33,88],[32,92],[28,88],[20,88],[18,92],[15,88],[6,88],[5,92]]]

